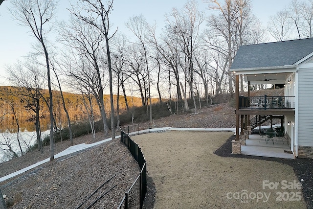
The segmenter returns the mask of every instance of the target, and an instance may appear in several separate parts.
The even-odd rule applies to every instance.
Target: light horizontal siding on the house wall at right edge
[[[313,146],[313,68],[298,75],[298,145]]]

